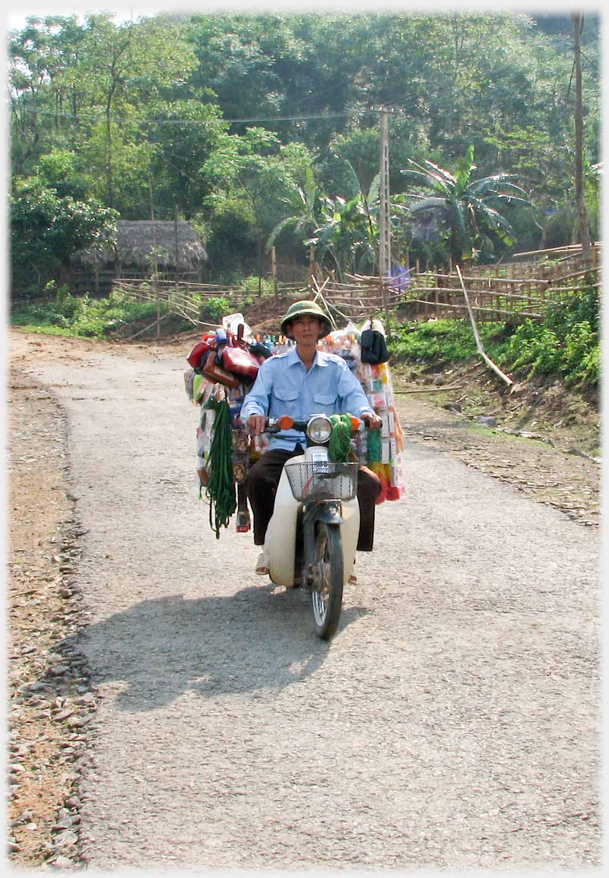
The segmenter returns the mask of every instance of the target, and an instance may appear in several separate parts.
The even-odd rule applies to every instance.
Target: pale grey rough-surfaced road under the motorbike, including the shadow
[[[184,365],[25,364],[84,531],[88,867],[597,867],[598,529],[409,440],[324,644],[251,537],[211,531]]]

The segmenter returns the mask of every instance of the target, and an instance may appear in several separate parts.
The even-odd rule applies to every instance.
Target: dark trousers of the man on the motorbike
[[[247,472],[247,500],[254,513],[254,543],[262,546],[267,526],[273,515],[275,494],[283,470],[283,464],[290,457],[302,454],[297,445],[293,451],[275,449],[267,451]],[[372,551],[375,533],[375,504],[381,493],[381,481],[366,466],[361,466],[357,474],[357,500],[360,504],[360,532],[357,537],[357,551]]]

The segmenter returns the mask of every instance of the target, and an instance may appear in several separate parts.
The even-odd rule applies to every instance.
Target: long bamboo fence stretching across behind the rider
[[[529,261],[471,266],[462,274],[452,270],[410,270],[395,277],[347,275],[346,282],[326,277],[324,300],[331,313],[355,322],[391,314],[411,317],[450,317],[468,319],[469,309],[479,322],[542,320],[548,306],[569,298],[584,279],[600,287],[598,250],[592,249],[591,261],[584,262],[581,248],[556,248],[542,251],[559,255],[558,261]],[[560,261],[570,251],[569,266]],[[464,295],[463,284],[467,290]],[[115,280],[114,288],[135,300],[164,304],[166,310],[181,314],[194,326],[204,325],[204,313],[210,299],[226,299],[230,311],[247,309],[247,320],[261,320],[279,306],[295,299],[314,298],[317,280],[302,284],[277,283],[275,292],[262,296],[243,285],[200,284],[145,278]],[[253,301],[254,299],[254,301]],[[216,304],[216,303],[214,303]],[[469,307],[468,307],[469,305]]]

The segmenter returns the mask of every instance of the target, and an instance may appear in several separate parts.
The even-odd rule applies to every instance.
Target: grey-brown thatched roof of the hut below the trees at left
[[[118,262],[150,268],[153,248],[157,251],[157,263],[161,270],[176,269],[176,223],[173,220],[119,219],[116,255],[114,250],[82,250],[75,261],[83,265],[101,267]],[[154,229],[153,229],[154,225]],[[184,219],[177,222],[178,268],[181,271],[197,270],[207,262],[204,243],[195,229]]]

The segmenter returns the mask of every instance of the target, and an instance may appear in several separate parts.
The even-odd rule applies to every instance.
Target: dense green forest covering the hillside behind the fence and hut
[[[598,16],[581,43],[598,237]],[[569,15],[512,12],[28,18],[9,34],[13,292],[118,219],[189,220],[214,281],[271,245],[374,271],[382,110],[396,263],[577,241],[573,45]]]

